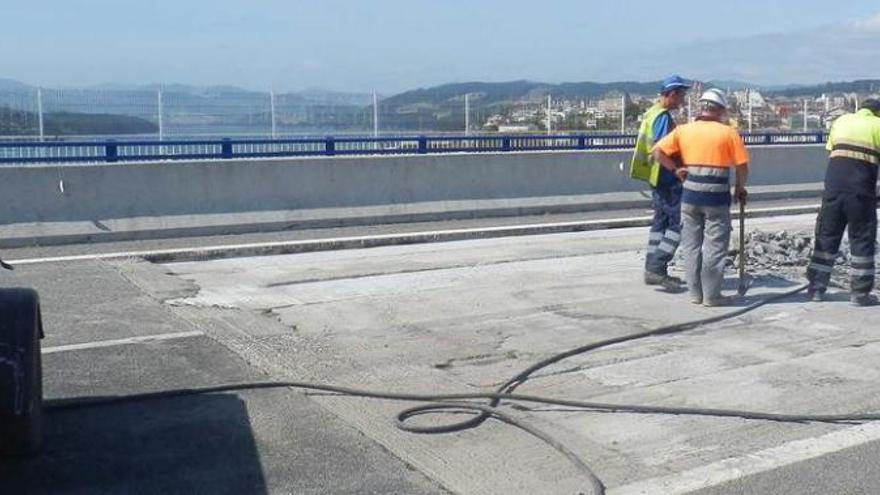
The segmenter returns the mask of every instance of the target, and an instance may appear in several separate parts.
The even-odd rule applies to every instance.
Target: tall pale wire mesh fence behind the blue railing
[[[638,117],[651,100],[638,96],[631,101],[611,95],[546,96],[546,100],[536,96],[498,105],[480,93],[413,102],[365,93],[275,93],[222,86],[5,86],[0,87],[0,140],[470,136],[494,129],[513,132],[510,127],[542,134],[626,133],[637,129]],[[830,115],[828,99],[824,110],[815,101],[804,100],[802,111],[789,103],[780,106],[784,111],[774,113],[774,119],[768,120],[766,109],[756,111],[754,122],[751,111],[747,115],[734,112],[735,118],[743,129],[755,132],[800,130],[802,125],[805,132],[825,128]],[[808,108],[809,104],[812,107]],[[678,114],[678,121],[692,116],[690,107]]]

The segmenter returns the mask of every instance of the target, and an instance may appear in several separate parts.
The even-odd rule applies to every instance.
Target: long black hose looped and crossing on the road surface
[[[698,320],[687,321],[667,325],[652,330],[637,332],[620,337],[592,342],[574,349],[570,349],[544,360],[538,361],[529,366],[522,372],[518,373],[511,379],[507,380],[495,392],[475,392],[460,394],[414,394],[401,392],[385,392],[376,390],[364,390],[357,388],[341,387],[336,385],[328,385],[311,382],[297,381],[266,381],[266,382],[248,382],[248,383],[232,383],[222,384],[208,387],[184,388],[175,390],[165,390],[159,392],[147,392],[142,394],[115,396],[115,397],[97,397],[97,398],[72,398],[72,399],[54,399],[46,401],[45,410],[47,412],[69,411],[87,407],[106,406],[112,404],[167,399],[173,397],[185,397],[199,394],[210,394],[220,392],[232,392],[241,390],[257,390],[269,388],[298,388],[305,390],[315,390],[320,392],[329,392],[340,395],[365,397],[371,399],[382,400],[399,400],[409,402],[427,402],[427,404],[405,409],[397,414],[396,425],[404,431],[412,433],[449,433],[462,431],[465,429],[476,427],[489,418],[494,418],[510,425],[516,426],[532,436],[545,442],[565,458],[567,458],[589,481],[594,494],[604,494],[605,486],[602,481],[593,473],[592,469],[586,462],[568,449],[564,444],[554,439],[547,433],[530,426],[523,421],[514,418],[499,409],[502,401],[505,402],[525,402],[534,404],[564,406],[570,408],[581,409],[585,411],[605,411],[605,412],[624,412],[636,414],[664,414],[664,415],[688,415],[688,416],[715,416],[715,417],[733,417],[749,420],[762,421],[778,421],[778,422],[861,422],[861,421],[880,421],[880,413],[850,413],[850,414],[777,414],[756,411],[746,411],[738,409],[711,409],[711,408],[689,408],[689,407],[659,407],[651,405],[638,404],[613,404],[604,402],[591,402],[580,400],[558,399],[553,397],[543,397],[538,395],[527,395],[514,393],[516,388],[525,383],[529,377],[536,371],[556,364],[564,359],[584,354],[586,352],[601,349],[603,347],[630,342],[634,340],[644,339],[648,337],[656,337],[660,335],[671,335],[676,333],[693,330],[698,327],[717,323],[741,316],[745,313],[753,311],[765,304],[793,296],[804,291],[806,285],[795,289],[773,294],[762,298],[752,304],[743,306],[734,311],[702,318]],[[488,400],[488,404],[480,404],[475,401]],[[475,416],[465,421],[457,423],[449,423],[438,426],[417,426],[407,422],[412,417],[442,412],[462,412],[468,411],[475,413]]]

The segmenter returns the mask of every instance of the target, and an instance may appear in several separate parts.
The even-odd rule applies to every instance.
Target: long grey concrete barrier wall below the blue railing
[[[821,146],[762,146],[750,153],[755,185],[816,183],[824,176]],[[324,220],[348,212],[369,223],[356,210],[397,214],[398,221],[413,212],[477,216],[487,208],[515,213],[523,205],[534,212],[553,205],[578,211],[595,207],[591,195],[645,189],[626,176],[630,156],[621,150],[4,166],[0,237],[6,240],[0,245],[20,244],[10,239],[46,225],[58,230],[82,223],[93,237],[121,239],[162,230],[209,234],[233,224],[253,224],[251,231],[285,228],[307,219],[304,212],[323,212]],[[182,222],[176,227],[175,218]]]

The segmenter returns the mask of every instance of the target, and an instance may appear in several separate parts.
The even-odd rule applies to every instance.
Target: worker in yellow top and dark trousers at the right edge
[[[831,155],[825,172],[816,240],[807,267],[807,297],[821,301],[828,288],[843,231],[847,230],[852,267],[850,301],[876,303],[874,243],[877,239],[877,167],[880,162],[880,100],[867,99],[861,110],[840,116],[831,126]]]

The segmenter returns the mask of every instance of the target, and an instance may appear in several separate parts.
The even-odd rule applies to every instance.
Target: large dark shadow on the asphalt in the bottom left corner
[[[202,395],[46,415],[43,452],[0,459],[8,494],[267,493],[245,403]]]

